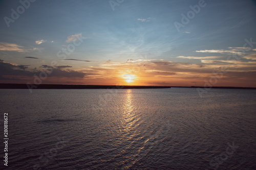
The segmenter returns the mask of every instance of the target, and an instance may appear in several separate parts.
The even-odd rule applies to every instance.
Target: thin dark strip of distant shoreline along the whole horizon
[[[32,84],[33,89],[149,89],[149,88],[223,88],[223,89],[256,89],[256,87],[201,87],[201,86],[115,86],[115,85],[64,85],[64,84]],[[0,89],[28,89],[27,84],[2,83]]]

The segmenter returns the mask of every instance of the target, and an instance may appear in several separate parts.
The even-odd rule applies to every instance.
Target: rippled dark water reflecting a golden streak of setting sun
[[[8,169],[256,169],[256,90],[0,92]]]

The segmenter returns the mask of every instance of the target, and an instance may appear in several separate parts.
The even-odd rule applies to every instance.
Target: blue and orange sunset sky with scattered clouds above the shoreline
[[[0,1],[0,83],[256,87],[256,3]]]

